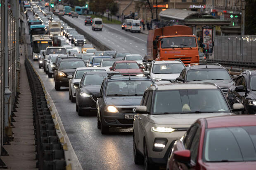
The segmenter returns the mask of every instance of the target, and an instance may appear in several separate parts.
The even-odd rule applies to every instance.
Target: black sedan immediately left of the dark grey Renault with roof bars
[[[100,87],[103,79],[107,77],[107,72],[85,72],[81,82],[75,82],[76,88],[76,111],[78,116],[82,116],[87,112],[96,111],[95,95],[100,93]]]

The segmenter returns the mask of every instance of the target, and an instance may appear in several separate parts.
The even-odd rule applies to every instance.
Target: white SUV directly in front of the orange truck
[[[184,68],[185,65],[180,60],[152,61],[145,72],[149,73],[156,83],[175,83]]]

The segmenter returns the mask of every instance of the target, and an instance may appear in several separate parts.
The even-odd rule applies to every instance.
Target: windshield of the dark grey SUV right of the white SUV
[[[187,82],[200,80],[232,80],[225,69],[196,69],[187,72]]]

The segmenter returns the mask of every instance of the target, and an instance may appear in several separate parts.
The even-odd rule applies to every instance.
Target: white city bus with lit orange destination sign
[[[50,35],[32,35],[32,55],[33,60],[39,59],[39,52],[52,46]]]

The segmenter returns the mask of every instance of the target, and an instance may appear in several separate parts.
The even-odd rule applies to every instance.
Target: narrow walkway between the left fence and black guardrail
[[[17,112],[13,122],[14,140],[10,145],[4,145],[9,156],[1,156],[2,161],[10,170],[37,170],[36,148],[33,126],[33,103],[28,77],[24,65],[25,51],[21,45],[20,52],[20,95]]]

